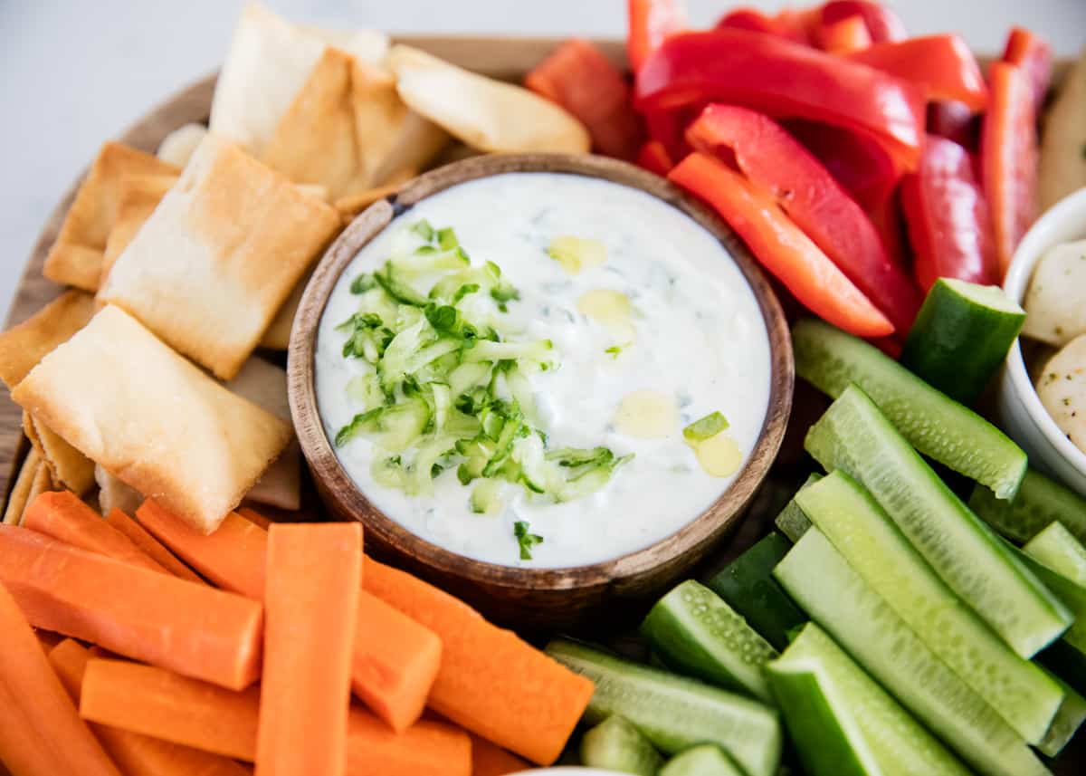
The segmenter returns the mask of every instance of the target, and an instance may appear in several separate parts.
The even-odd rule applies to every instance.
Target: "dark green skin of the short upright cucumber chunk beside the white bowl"
[[[955,401],[973,404],[1023,323],[1025,312],[983,309],[940,278],[909,329],[901,363]]]

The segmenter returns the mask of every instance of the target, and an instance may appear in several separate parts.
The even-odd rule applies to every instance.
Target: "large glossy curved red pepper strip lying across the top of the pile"
[[[873,137],[908,170],[915,167],[923,142],[921,87],[743,29],[669,38],[637,72],[635,95],[642,111],[729,102],[843,126]]]

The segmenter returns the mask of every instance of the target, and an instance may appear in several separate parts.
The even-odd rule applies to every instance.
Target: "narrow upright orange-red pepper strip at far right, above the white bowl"
[[[981,129],[981,177],[992,210],[999,281],[1033,222],[1037,117],[1030,74],[1016,65],[995,62],[989,78],[992,100]]]

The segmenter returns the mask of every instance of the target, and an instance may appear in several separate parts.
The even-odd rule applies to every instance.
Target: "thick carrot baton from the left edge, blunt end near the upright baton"
[[[260,675],[263,611],[241,596],[13,526],[0,581],[36,627],[231,689]]]

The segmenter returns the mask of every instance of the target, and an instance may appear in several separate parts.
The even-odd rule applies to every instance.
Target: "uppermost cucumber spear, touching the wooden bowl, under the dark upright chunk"
[[[821,321],[804,318],[792,329],[792,347],[796,374],[823,393],[836,399],[855,383],[917,450],[987,486],[999,499],[1018,492],[1026,470],[1025,452],[975,412],[874,346]],[[940,439],[948,433],[952,439]],[[967,460],[960,458],[962,450],[971,451]]]

